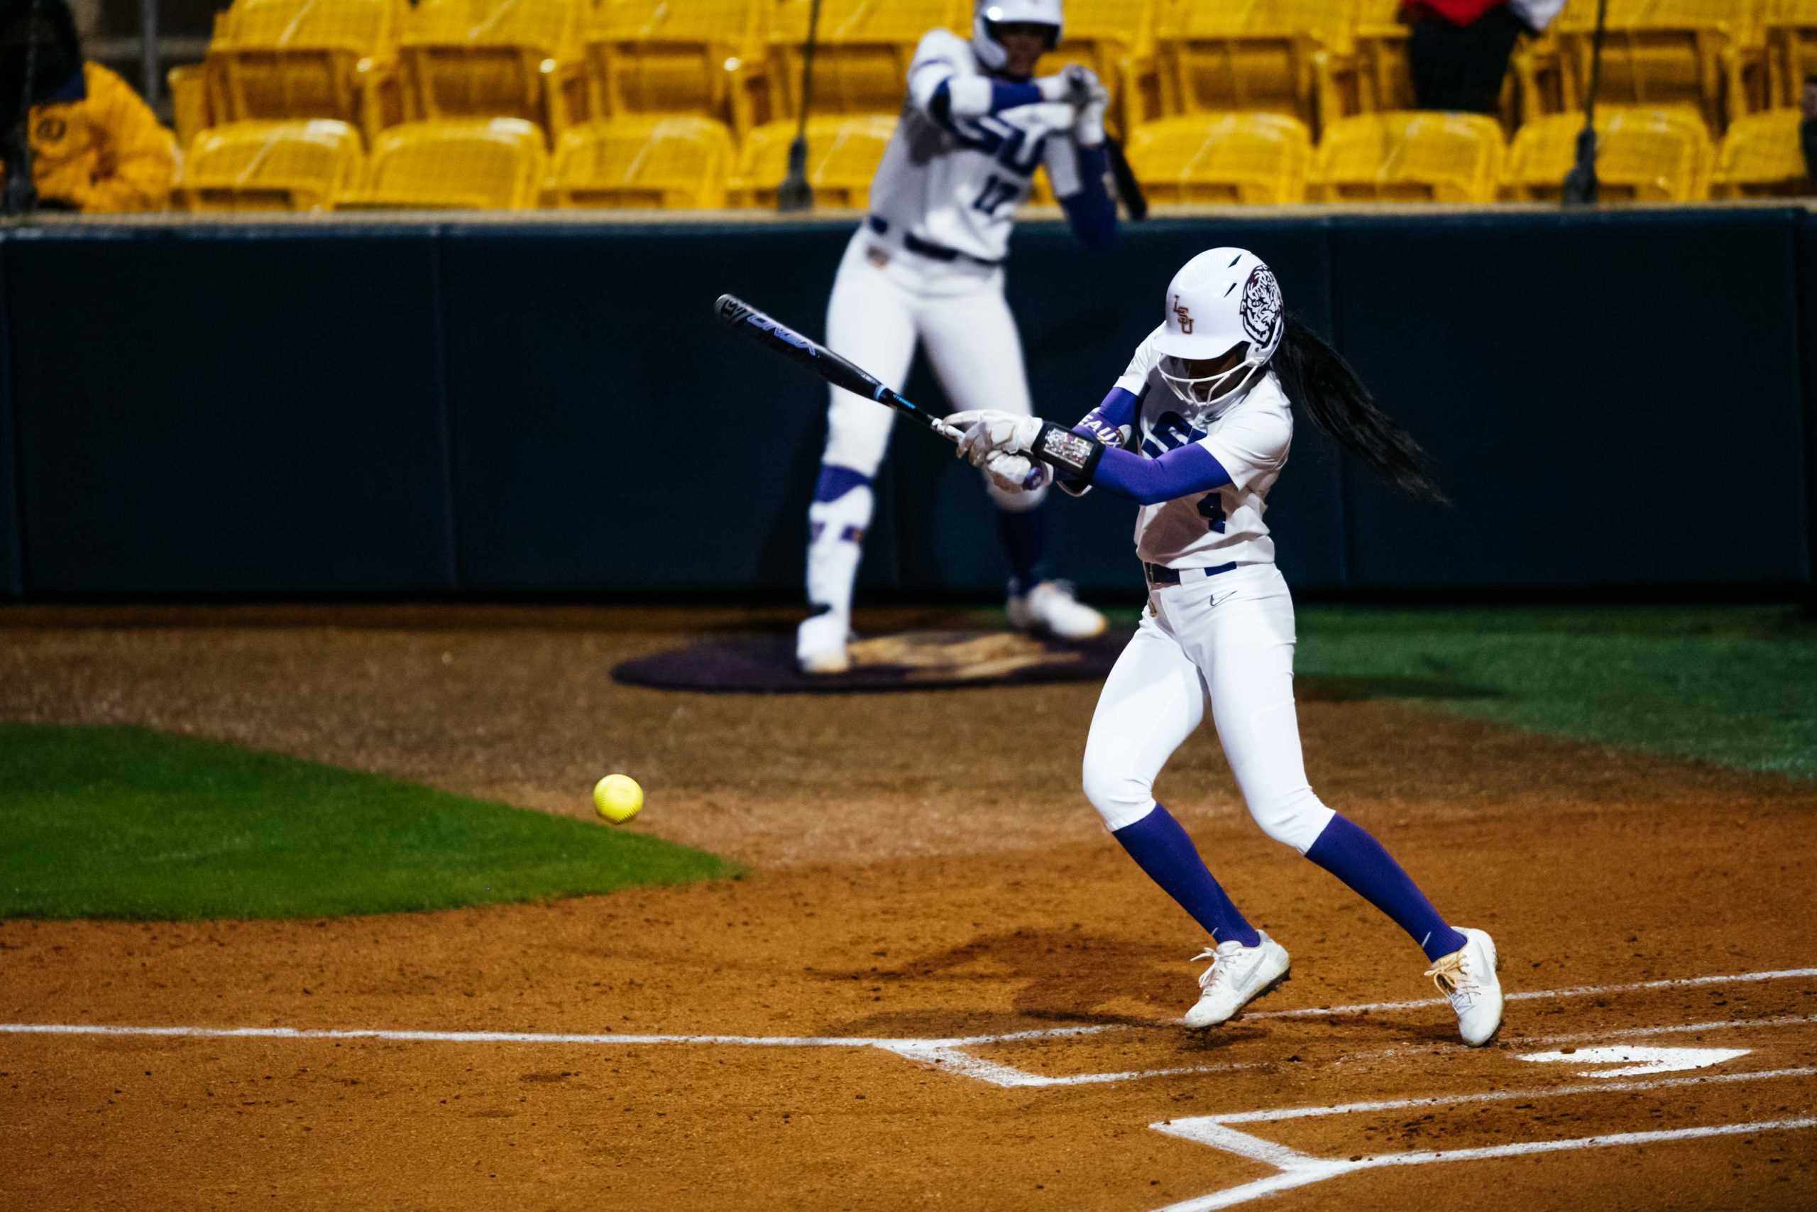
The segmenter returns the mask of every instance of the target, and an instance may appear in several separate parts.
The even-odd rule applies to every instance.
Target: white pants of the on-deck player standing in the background
[[[889,260],[878,265],[874,251]],[[1016,316],[1003,298],[1003,269],[889,251],[859,229],[845,249],[827,302],[827,345],[901,391],[918,340],[954,409],[1001,409],[1023,416],[1034,411]],[[894,411],[832,387],[821,462],[876,476],[894,423]],[[994,487],[990,494],[1012,511],[1034,509],[1043,496]]]

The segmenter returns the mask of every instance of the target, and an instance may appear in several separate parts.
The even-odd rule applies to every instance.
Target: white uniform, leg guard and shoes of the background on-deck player
[[[1041,20],[1050,15],[1057,35],[1057,0],[1010,7]],[[985,36],[985,11],[979,5],[978,38]],[[999,20],[1012,18],[1019,15]],[[970,118],[948,111],[943,124],[934,113],[941,85],[950,96],[956,82],[988,75],[974,44],[934,29],[916,47],[901,122],[870,184],[870,214],[845,249],[827,303],[827,345],[899,391],[919,342],[954,409],[1027,414],[1028,380],[1003,298],[1003,260],[1036,169],[1047,167],[1057,196],[1079,189],[1074,127],[1081,111],[1072,102],[1039,102]],[[847,667],[852,585],[876,503],[870,480],[894,418],[890,409],[830,389],[823,476],[845,469],[856,487],[834,500],[816,492],[809,509],[807,592],[816,614],[796,641],[809,672]],[[1001,491],[988,476],[985,485],[1010,512],[1030,512],[1045,496],[1039,489]],[[1021,601],[1012,596],[1010,620],[1074,638],[1105,627],[1101,614],[1057,581],[1038,585]]]

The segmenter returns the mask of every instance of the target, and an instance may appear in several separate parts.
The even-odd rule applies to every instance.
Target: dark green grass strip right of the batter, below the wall
[[[1296,671],[1339,692],[1817,778],[1817,625],[1792,607],[1303,607]]]

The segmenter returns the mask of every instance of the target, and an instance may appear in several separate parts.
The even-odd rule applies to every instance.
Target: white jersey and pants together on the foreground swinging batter
[[[1263,294],[1272,296],[1261,303],[1272,327],[1272,274]],[[1116,385],[1137,396],[1136,449],[1161,458],[1196,442],[1230,483],[1137,509],[1136,554],[1167,572],[1150,571],[1148,609],[1105,681],[1085,741],[1085,789],[1112,830],[1145,816],[1156,776],[1208,703],[1256,821],[1305,852],[1332,810],[1306,781],[1294,710],[1294,600],[1263,520],[1268,489],[1286,467],[1294,412],[1281,380],[1263,367],[1246,376],[1246,389],[1210,403],[1176,392],[1159,345],[1170,329],[1179,336],[1190,325],[1190,314],[1168,314]],[[1168,574],[1179,583],[1165,583]]]

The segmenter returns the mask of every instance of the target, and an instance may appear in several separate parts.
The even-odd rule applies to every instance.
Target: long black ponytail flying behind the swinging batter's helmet
[[[1305,409],[1314,425],[1379,471],[1394,487],[1419,500],[1450,502],[1434,483],[1426,452],[1414,436],[1375,407],[1375,396],[1345,356],[1299,316],[1288,313],[1286,334],[1268,369],[1279,376],[1286,398]]]

